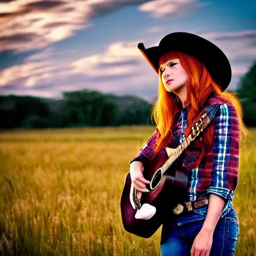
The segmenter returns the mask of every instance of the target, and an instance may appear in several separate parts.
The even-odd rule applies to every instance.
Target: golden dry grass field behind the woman
[[[160,229],[127,233],[119,199],[150,126],[0,133],[1,255],[160,255]],[[235,255],[256,255],[256,129],[242,145]]]

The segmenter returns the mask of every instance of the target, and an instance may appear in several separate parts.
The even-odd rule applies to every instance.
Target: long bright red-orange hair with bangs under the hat
[[[179,51],[170,51],[161,56],[160,64],[165,63],[171,58],[178,58],[181,66],[188,74],[186,84],[187,97],[184,105],[187,105],[187,129],[186,136],[189,134],[190,128],[194,125],[194,120],[199,116],[202,106],[210,93],[215,93],[224,102],[233,105],[236,109],[240,133],[246,133],[246,127],[242,121],[242,107],[234,93],[223,92],[220,86],[211,78],[205,65],[195,57]],[[151,109],[151,117],[153,118],[159,130],[160,136],[157,139],[156,152],[165,148],[170,141],[173,125],[174,113],[180,108],[178,99],[173,92],[168,92],[162,83],[161,73],[159,71],[158,97]],[[199,140],[197,140],[199,141]],[[203,142],[197,142],[197,145],[205,150],[213,144],[213,125],[207,128],[203,133]]]

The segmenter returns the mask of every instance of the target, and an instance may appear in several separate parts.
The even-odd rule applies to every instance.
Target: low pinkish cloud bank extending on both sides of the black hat
[[[243,38],[241,34],[246,36]],[[246,31],[198,34],[228,55],[232,67],[229,89],[237,87],[240,77],[253,63],[256,44],[248,34]],[[231,36],[233,39],[229,40]],[[157,93],[158,77],[137,49],[140,41],[146,47],[158,44],[152,44],[150,38],[117,41],[109,44],[104,52],[71,60],[65,52],[48,47],[25,58],[20,65],[0,71],[0,93],[60,96],[61,91],[88,88],[152,100]]]

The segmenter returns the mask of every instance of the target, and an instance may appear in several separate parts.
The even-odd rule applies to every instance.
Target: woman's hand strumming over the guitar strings
[[[149,180],[146,180],[142,174],[144,170],[144,166],[142,162],[139,161],[133,161],[130,164],[130,178],[131,182],[133,183],[133,186],[136,190],[140,192],[149,192],[148,189],[146,189],[146,184],[149,183]]]

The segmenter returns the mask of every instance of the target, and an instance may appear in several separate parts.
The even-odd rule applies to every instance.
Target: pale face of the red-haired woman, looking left
[[[162,83],[167,91],[182,91],[188,80],[188,74],[181,66],[178,58],[169,59],[160,65]]]

